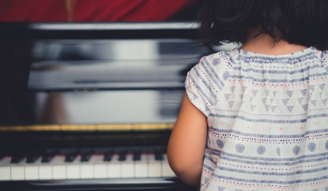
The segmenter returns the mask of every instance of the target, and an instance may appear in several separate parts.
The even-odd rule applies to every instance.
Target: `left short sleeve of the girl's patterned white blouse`
[[[224,80],[218,73],[218,65],[213,62],[220,63],[220,58],[203,57],[200,63],[187,73],[185,81],[189,100],[207,117],[217,105],[218,95],[224,86]]]

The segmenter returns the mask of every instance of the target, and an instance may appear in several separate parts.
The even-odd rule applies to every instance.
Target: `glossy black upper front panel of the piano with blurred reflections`
[[[175,24],[173,28],[184,25],[189,27],[184,29],[187,32],[195,32],[190,24]],[[31,27],[40,32],[36,26]],[[143,32],[147,36],[159,31]],[[29,51],[29,55],[3,66],[2,72],[12,75],[5,76],[10,83],[3,85],[3,97],[9,100],[1,100],[9,101],[13,111],[7,113],[8,103],[1,104],[7,111],[0,125],[174,123],[186,73],[207,54],[206,49],[197,40],[165,35],[112,38],[30,39],[26,47],[17,47],[12,41],[10,46],[16,54]],[[9,66],[12,64],[15,68]],[[16,75],[25,78],[17,81]],[[22,97],[23,103],[15,101]]]

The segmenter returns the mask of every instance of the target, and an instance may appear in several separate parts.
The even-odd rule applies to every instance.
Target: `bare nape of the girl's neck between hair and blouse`
[[[280,40],[279,42],[273,45],[273,39],[269,35],[259,33],[260,30],[258,30],[258,28],[250,29],[246,42],[243,44],[241,49],[248,52],[276,56],[291,54],[308,48],[302,45],[289,44],[285,40]],[[257,34],[259,35],[256,36]],[[254,38],[254,36],[256,37]]]

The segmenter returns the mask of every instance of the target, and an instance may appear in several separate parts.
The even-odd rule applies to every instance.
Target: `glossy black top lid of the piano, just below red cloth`
[[[197,39],[195,22],[0,22],[2,39]]]

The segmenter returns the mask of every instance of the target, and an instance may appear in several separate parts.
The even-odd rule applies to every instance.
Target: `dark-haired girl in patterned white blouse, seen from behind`
[[[204,0],[169,164],[201,191],[328,191],[328,0]]]

